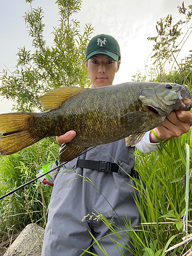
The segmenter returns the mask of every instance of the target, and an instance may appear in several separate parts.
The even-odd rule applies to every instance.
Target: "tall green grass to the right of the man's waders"
[[[159,250],[161,250],[160,255],[164,255],[165,247],[168,248],[181,242],[185,236],[186,227],[183,226],[183,218],[186,210],[186,198],[189,202],[188,219],[191,220],[191,182],[186,184],[184,179],[186,175],[186,142],[190,144],[190,132],[180,138],[167,141],[166,145],[162,144],[158,152],[144,155],[136,151],[136,169],[146,184],[146,188],[144,188],[142,183],[137,182],[141,197],[136,203],[141,213],[141,223],[143,223],[141,224],[140,238],[145,245],[148,245],[148,248],[153,249],[154,255]],[[191,167],[190,160],[189,172],[191,172]],[[185,194],[187,185],[189,193]],[[190,223],[187,222],[187,225],[188,232],[191,233]],[[150,241],[157,241],[156,248],[152,248]],[[136,239],[134,239],[134,243],[135,248],[138,248]],[[185,248],[184,246],[183,252],[186,252],[191,245],[188,244]],[[180,253],[181,247],[178,247],[174,250],[173,255],[180,255]],[[136,255],[142,255],[142,252],[137,252]]]

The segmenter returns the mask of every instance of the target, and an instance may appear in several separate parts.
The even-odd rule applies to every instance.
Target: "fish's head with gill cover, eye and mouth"
[[[160,83],[141,91],[139,99],[144,105],[160,116],[167,116],[173,110],[191,109],[191,96],[186,85]]]

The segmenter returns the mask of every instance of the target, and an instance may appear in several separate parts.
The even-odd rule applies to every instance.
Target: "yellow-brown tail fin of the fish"
[[[8,113],[0,115],[0,153],[10,155],[32,145],[39,139],[30,134],[33,113]]]

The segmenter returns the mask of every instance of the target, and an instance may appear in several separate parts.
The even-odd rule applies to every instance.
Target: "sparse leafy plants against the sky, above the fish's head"
[[[133,76],[133,81],[190,83],[192,54],[182,59],[181,63],[178,63],[177,57],[192,33],[192,5],[185,8],[183,2],[182,7],[178,6],[178,10],[180,15],[184,15],[184,19],[174,24],[174,19],[170,14],[157,22],[157,36],[147,38],[155,42],[152,55],[155,67],[146,66],[144,75],[138,71]],[[185,33],[182,32],[184,25]]]

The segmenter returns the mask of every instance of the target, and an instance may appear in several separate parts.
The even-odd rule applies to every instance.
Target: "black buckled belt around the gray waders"
[[[80,168],[100,170],[101,172],[118,173],[118,170],[119,170],[119,165],[117,163],[105,162],[105,161],[78,159],[76,166]],[[136,172],[136,170],[134,169],[131,169],[130,176],[136,179],[140,179],[138,172]]]

